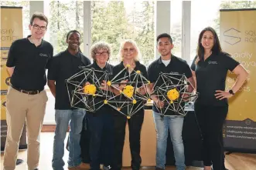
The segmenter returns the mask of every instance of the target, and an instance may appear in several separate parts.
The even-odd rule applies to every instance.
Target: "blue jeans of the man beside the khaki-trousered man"
[[[56,110],[55,122],[56,129],[53,142],[53,170],[63,170],[65,162],[63,162],[64,155],[64,140],[67,134],[67,127],[70,123],[69,136],[69,158],[67,161],[68,167],[80,165],[81,148],[80,148],[80,132],[83,127],[85,111],[82,109],[75,110]]]

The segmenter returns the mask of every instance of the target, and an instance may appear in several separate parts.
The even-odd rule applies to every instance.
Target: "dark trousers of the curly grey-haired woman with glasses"
[[[103,162],[112,166],[114,148],[114,116],[111,113],[87,114],[90,130],[90,169],[99,170]]]

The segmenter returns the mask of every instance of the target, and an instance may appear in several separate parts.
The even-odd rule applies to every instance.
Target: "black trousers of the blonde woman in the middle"
[[[125,143],[125,125],[128,120],[129,141],[131,150],[131,168],[139,169],[142,163],[141,150],[141,130],[144,120],[144,110],[140,110],[135,115],[127,119],[124,115],[114,116],[114,170],[122,167],[122,154]]]

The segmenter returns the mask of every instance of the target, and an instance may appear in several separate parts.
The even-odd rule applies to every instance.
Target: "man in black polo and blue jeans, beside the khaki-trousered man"
[[[67,127],[70,124],[69,158],[70,169],[76,169],[80,163],[80,132],[83,126],[85,112],[82,109],[72,108],[67,92],[66,80],[76,74],[81,66],[90,65],[90,60],[80,52],[81,35],[76,30],[67,33],[67,50],[53,57],[48,71],[49,89],[55,97],[56,130],[53,142],[54,170],[63,170],[64,140]]]

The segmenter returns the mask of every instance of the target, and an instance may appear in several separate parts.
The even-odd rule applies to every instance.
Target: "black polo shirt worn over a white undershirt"
[[[191,78],[192,77],[192,72],[189,68],[189,65],[186,63],[185,60],[182,58],[178,58],[174,55],[171,57],[171,61],[169,64],[166,66],[165,64],[162,63],[162,58],[160,57],[159,59],[155,60],[155,62],[152,62],[151,65],[148,66],[148,79],[151,83],[155,83],[157,79],[159,78],[160,73],[173,73],[173,74],[179,74],[183,75],[185,74],[186,78]],[[175,77],[175,75],[173,75]],[[179,77],[177,77],[179,78]],[[178,80],[177,80],[178,81]],[[178,84],[178,82],[174,82],[174,84]],[[159,78],[159,81],[155,85],[155,87],[159,87],[163,84],[164,82],[162,81],[162,78]],[[159,112],[158,109],[153,105],[153,111],[154,112]],[[166,111],[166,115],[176,115],[176,113],[168,110]]]

